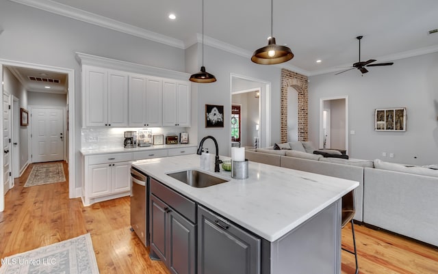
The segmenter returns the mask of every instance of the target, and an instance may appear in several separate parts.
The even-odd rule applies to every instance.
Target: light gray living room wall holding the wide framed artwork
[[[438,53],[398,59],[363,74],[309,77],[309,138],[318,143],[320,98],[348,96],[350,156],[415,165],[437,164]],[[406,132],[374,131],[374,109],[407,107]],[[387,157],[382,156],[387,152]],[[394,158],[389,158],[394,153]],[[416,157],[416,158],[415,158]]]

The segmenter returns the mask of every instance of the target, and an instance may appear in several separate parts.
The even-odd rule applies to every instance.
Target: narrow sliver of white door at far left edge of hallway
[[[10,94],[3,92],[3,194],[10,189]]]

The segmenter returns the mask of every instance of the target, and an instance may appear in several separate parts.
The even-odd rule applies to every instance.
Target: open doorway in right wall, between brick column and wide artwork
[[[348,154],[348,96],[320,99],[319,147]]]

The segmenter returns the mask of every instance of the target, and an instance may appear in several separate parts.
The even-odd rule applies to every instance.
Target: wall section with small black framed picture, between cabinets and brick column
[[[199,109],[197,116],[201,117],[201,119],[198,120],[198,142],[207,135],[213,135],[218,140],[220,154],[229,155],[230,124],[224,123],[224,128],[205,128],[205,120],[203,120],[203,117],[205,104],[223,105],[226,115],[225,120],[227,120],[227,117],[231,115],[230,75],[238,74],[271,83],[271,104],[268,110],[271,120],[271,143],[278,143],[280,141],[281,68],[278,66],[254,64],[250,61],[249,57],[245,58],[239,55],[233,55],[211,46],[205,46],[204,50],[205,68],[207,72],[214,74],[218,81],[209,84],[194,84],[198,87],[197,100]],[[201,60],[198,61],[198,67],[192,68],[192,71],[198,71],[200,66]],[[239,88],[239,90],[246,88]],[[214,152],[213,142],[206,141],[205,146],[209,148],[210,152]]]

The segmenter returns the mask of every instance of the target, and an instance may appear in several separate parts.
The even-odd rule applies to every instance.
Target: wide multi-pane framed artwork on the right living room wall
[[[406,131],[406,107],[374,110],[374,131]]]

